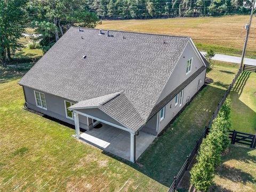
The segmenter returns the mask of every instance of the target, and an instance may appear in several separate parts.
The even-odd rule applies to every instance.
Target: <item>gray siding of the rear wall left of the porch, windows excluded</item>
[[[47,110],[45,110],[45,109],[42,109],[42,108],[39,108],[36,106],[34,90],[29,87],[26,87],[26,86],[23,86],[23,87],[24,87],[24,92],[25,92],[28,108],[36,110],[42,114],[57,118],[63,122],[67,122],[69,124],[74,125],[74,120],[66,117],[66,111],[65,111],[66,109],[65,109],[64,100],[67,100],[67,99],[63,99],[63,98],[57,97],[55,95],[39,91],[39,92],[44,93],[44,95],[45,95],[46,106],[47,106]],[[35,91],[37,91],[37,90],[35,90]],[[69,101],[69,100],[67,100],[67,101]],[[74,101],[71,101],[71,102],[74,102]],[[85,117],[85,116],[79,115],[79,124],[80,124],[80,127],[83,129],[87,130],[89,128],[87,126],[87,117]]]

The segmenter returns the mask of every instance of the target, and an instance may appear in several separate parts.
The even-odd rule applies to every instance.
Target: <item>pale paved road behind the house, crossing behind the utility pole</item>
[[[204,55],[206,52],[201,51],[201,53]],[[215,56],[212,58],[213,60],[219,60],[219,61],[226,61],[226,62],[233,62],[233,63],[240,63],[241,57],[231,56],[231,55],[224,55],[216,53]],[[244,63],[246,65],[256,66],[256,59],[249,59],[245,58]]]

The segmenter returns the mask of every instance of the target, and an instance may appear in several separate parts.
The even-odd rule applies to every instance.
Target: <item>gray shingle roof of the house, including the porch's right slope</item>
[[[102,110],[138,130],[189,37],[81,29],[71,27],[20,84],[77,102],[123,91]]]

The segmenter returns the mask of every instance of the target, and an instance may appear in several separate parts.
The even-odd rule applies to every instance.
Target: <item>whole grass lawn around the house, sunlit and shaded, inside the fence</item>
[[[114,158],[72,138],[74,130],[22,110],[22,70],[0,70],[0,191],[166,191],[202,134],[237,65],[215,62],[206,86],[139,158]]]

